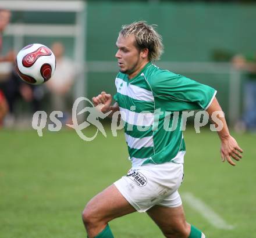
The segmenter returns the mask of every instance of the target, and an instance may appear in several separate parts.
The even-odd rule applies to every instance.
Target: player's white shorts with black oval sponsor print
[[[138,212],[145,212],[154,205],[182,205],[177,191],[182,181],[183,164],[168,162],[131,168],[114,185]]]

